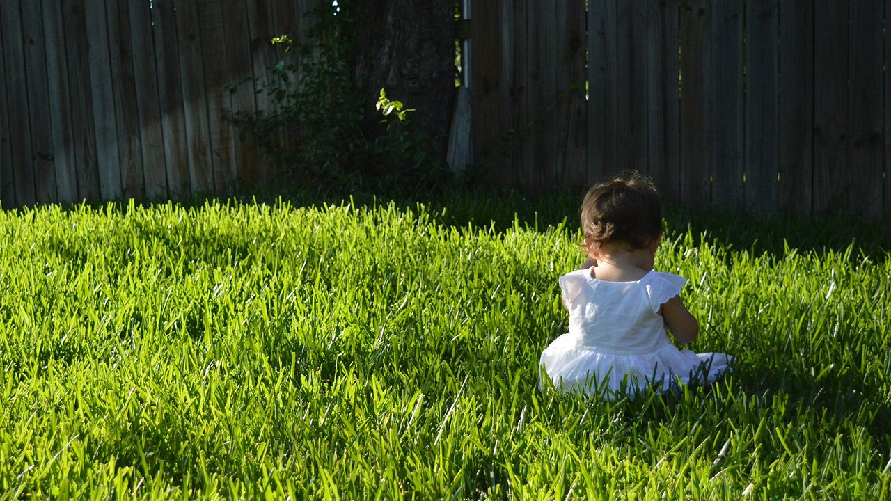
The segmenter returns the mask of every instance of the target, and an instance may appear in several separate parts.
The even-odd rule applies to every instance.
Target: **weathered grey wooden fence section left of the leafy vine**
[[[231,193],[268,177],[225,109],[266,78],[317,0],[3,0],[0,200]],[[296,57],[290,53],[288,57]]]

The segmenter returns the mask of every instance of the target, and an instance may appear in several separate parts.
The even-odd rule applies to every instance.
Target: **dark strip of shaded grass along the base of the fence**
[[[438,223],[455,227],[493,227],[495,231],[515,226],[544,231],[549,226],[564,225],[569,232],[579,229],[581,196],[568,190],[552,190],[540,195],[527,195],[510,190],[467,189],[453,185],[423,192],[411,189],[393,193],[347,193],[324,188],[284,188],[273,192],[242,194],[229,198],[192,196],[175,201],[185,208],[200,208],[207,203],[246,203],[274,205],[280,201],[293,207],[345,205],[372,208],[389,203],[405,209],[423,205]],[[117,202],[121,211],[128,202]],[[143,207],[167,204],[167,200],[141,200]],[[101,208],[107,203],[84,203]],[[79,209],[84,204],[72,204],[65,210]],[[696,207],[672,202],[664,203],[667,236],[690,233],[693,244],[708,242],[730,250],[746,250],[756,255],[764,253],[782,257],[788,250],[825,253],[846,252],[856,261],[869,257],[884,261],[891,250],[891,219],[870,220],[824,213],[816,216],[784,213],[745,213],[739,210]]]

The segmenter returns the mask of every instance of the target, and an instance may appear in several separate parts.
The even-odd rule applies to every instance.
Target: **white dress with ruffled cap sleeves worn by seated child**
[[[542,377],[559,390],[606,398],[715,381],[733,357],[677,349],[658,313],[686,282],[657,271],[636,282],[598,280],[590,269],[561,275],[569,332],[542,353]]]

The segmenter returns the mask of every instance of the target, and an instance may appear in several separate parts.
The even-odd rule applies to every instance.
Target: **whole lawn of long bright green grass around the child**
[[[0,499],[891,497],[885,234],[669,210],[736,371],[584,401],[575,204],[0,212]]]

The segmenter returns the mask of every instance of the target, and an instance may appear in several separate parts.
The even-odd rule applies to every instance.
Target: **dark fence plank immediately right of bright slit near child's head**
[[[711,202],[711,4],[681,7],[681,200]]]

